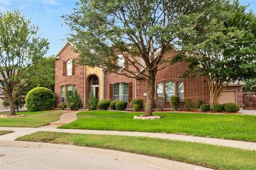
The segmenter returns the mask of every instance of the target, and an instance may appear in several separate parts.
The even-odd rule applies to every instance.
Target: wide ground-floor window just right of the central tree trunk
[[[156,86],[157,101],[169,102],[172,96],[178,96],[180,101],[184,100],[183,82],[161,82]]]

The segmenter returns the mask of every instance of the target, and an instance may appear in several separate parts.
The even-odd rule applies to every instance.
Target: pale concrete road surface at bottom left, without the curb
[[[83,152],[0,147],[0,169],[159,169]]]

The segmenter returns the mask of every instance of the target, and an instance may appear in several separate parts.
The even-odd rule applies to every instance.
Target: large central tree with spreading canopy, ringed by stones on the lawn
[[[145,115],[151,116],[156,73],[171,60],[163,55],[175,46],[179,15],[202,11],[212,2],[81,0],[63,18],[70,27],[68,41],[79,54],[78,63],[147,81]]]

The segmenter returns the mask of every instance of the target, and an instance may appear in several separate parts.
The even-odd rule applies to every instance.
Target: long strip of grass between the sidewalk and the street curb
[[[256,151],[147,137],[36,132],[16,140],[121,150],[214,169],[256,169]]]

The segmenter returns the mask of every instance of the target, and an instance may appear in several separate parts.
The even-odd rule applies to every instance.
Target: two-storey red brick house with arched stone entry
[[[175,52],[170,50],[165,56],[174,56]],[[142,79],[127,78],[124,75],[109,73],[98,67],[74,66],[72,60],[77,57],[73,52],[73,46],[68,42],[55,55],[55,95],[57,103],[65,103],[66,92],[70,93],[77,89],[81,95],[84,107],[88,102],[89,93],[99,95],[99,99],[119,99],[129,102],[131,99],[145,99],[147,96],[147,83]],[[117,64],[127,64],[122,57]],[[124,65],[129,69],[134,69],[131,65]],[[163,65],[164,66],[164,65]],[[176,63],[165,67],[157,72],[155,84],[155,100],[162,97],[164,108],[170,108],[170,97],[177,95],[182,101],[189,98],[192,101],[203,99],[205,103],[210,101],[209,87],[204,77],[180,79],[187,70],[186,63]],[[244,83],[230,83],[223,91],[219,103],[235,102],[240,107],[243,106],[243,85]]]

